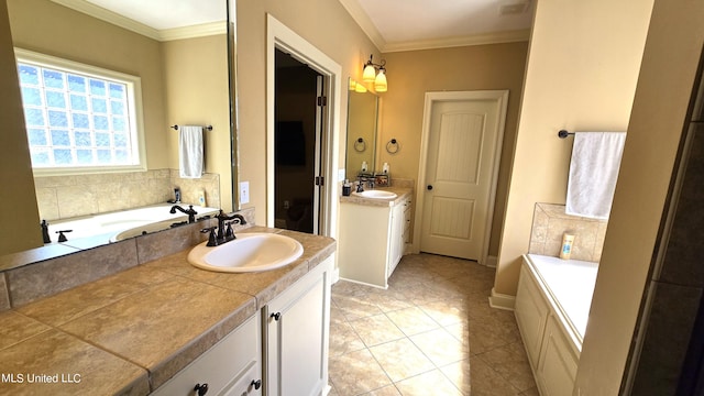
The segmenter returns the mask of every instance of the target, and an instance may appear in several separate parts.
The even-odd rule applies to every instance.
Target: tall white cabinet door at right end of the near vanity
[[[263,309],[266,396],[326,395],[334,255]]]

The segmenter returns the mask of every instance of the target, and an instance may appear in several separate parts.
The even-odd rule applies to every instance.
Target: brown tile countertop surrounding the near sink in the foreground
[[[227,274],[193,267],[185,250],[0,312],[0,394],[146,395],[336,250],[326,237],[241,232],[279,232],[304,254]]]

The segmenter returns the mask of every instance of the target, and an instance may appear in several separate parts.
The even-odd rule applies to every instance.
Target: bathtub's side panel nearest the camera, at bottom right
[[[578,356],[572,352],[572,348],[556,318],[550,316],[536,373],[540,394],[544,396],[572,395],[576,367]]]

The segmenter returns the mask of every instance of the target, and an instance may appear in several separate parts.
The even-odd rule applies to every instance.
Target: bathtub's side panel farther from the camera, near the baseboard
[[[528,360],[534,370],[538,363],[538,353],[540,352],[549,311],[548,302],[542,298],[538,285],[536,285],[530,272],[524,264],[520,270],[514,314],[528,353]]]

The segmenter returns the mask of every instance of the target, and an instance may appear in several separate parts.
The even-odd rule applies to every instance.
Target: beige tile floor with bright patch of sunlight
[[[538,395],[513,312],[488,307],[494,274],[414,254],[387,290],[334,284],[330,395]]]

